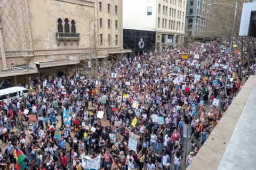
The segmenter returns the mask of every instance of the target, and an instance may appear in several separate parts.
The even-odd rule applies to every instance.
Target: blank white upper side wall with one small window
[[[123,0],[123,28],[154,31],[157,4],[157,0]],[[152,15],[147,15],[150,6]]]

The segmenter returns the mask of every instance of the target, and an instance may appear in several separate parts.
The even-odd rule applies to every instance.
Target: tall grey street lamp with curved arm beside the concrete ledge
[[[227,94],[227,84],[228,84],[228,71],[229,71],[229,65],[230,65],[230,59],[231,59],[231,54],[232,54],[232,50],[233,50],[233,36],[234,36],[234,29],[235,29],[235,21],[236,21],[236,13],[237,13],[237,2],[236,3],[213,3],[213,4],[208,4],[207,6],[211,6],[211,5],[218,5],[218,4],[222,4],[222,5],[229,5],[234,7],[235,9],[235,14],[234,14],[234,21],[233,21],[233,29],[232,29],[232,36],[231,36],[231,43],[230,43],[230,50],[229,50],[229,57],[228,57],[228,67],[227,67],[227,75],[226,75],[226,82],[225,82],[225,92]],[[236,6],[230,5],[230,4],[236,4]],[[243,62],[243,61],[241,61]]]

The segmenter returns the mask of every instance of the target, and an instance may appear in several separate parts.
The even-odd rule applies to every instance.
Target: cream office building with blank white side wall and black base
[[[136,54],[183,42],[185,0],[123,0],[123,6],[124,44]]]

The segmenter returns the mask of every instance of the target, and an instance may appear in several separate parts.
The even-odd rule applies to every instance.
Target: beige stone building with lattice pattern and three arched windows
[[[80,60],[94,57],[92,42],[98,58],[131,52],[123,50],[122,4],[122,0],[1,0],[0,86],[5,80],[15,86],[29,76],[68,71]]]

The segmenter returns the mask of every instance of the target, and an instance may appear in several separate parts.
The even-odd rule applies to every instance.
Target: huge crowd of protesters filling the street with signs
[[[31,78],[22,84],[29,94],[1,101],[0,139],[8,147],[0,166],[16,168],[17,147],[30,169],[91,168],[83,156],[99,155],[105,170],[179,170],[182,159],[188,167],[221,119],[223,103],[243,85],[239,53],[227,70],[228,50],[227,43],[195,43],[123,58],[101,67],[99,78],[88,68]],[[253,74],[254,66],[247,67],[243,75]],[[185,137],[199,143],[187,155]]]

